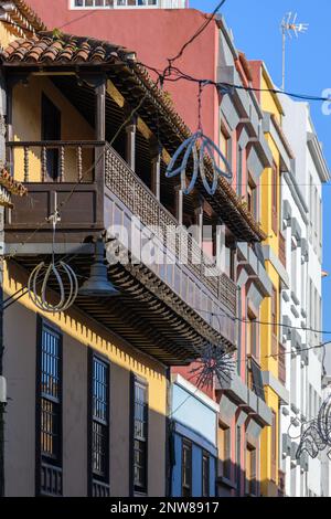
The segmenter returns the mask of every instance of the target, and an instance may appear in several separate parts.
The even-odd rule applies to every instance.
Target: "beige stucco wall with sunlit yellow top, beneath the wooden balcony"
[[[4,289],[26,285],[17,267],[6,269]],[[129,494],[130,373],[149,386],[148,495],[166,490],[166,369],[78,310],[45,315],[63,332],[64,496],[87,492],[87,348],[110,361],[110,491]],[[4,374],[12,399],[7,409],[6,481],[8,496],[34,495],[36,314],[28,297],[6,310]]]

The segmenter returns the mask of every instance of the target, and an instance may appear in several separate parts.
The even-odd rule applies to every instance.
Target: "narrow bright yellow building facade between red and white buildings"
[[[284,109],[273,89],[273,80],[263,62],[253,62],[255,86],[261,92],[259,102],[264,112],[264,133],[273,155],[273,168],[264,170],[260,179],[261,226],[267,235],[264,242],[266,271],[273,283],[273,295],[261,304],[260,356],[264,372],[266,403],[273,411],[273,426],[265,427],[260,444],[261,495],[276,497],[279,488],[279,423],[281,396],[279,384],[281,328],[279,324],[281,289],[286,279],[285,240],[281,233],[281,172],[291,158],[291,151],[281,130]]]

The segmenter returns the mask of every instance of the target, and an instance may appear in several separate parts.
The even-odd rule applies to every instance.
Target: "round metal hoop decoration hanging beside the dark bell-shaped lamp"
[[[60,290],[60,300],[55,305],[51,305],[46,299],[47,284],[51,276],[55,277]],[[41,283],[41,277],[43,280],[39,292],[36,287]],[[64,282],[68,283],[68,290],[65,289]],[[75,301],[78,294],[78,280],[72,267],[66,263],[58,262],[58,267],[56,267],[54,263],[50,263],[47,266],[42,262],[32,271],[28,282],[28,290],[30,299],[40,310],[50,314],[60,313],[67,310]]]

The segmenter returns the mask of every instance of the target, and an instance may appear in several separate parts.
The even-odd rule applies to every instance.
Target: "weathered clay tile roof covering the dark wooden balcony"
[[[1,59],[3,65],[15,66],[61,66],[76,65],[77,63],[100,66],[116,63],[119,65],[116,72],[117,75],[120,75],[119,83],[127,81],[130,86],[136,83],[138,88],[146,93],[147,105],[152,103],[154,109],[162,114],[164,124],[171,128],[172,137],[169,137],[169,142],[173,138],[180,142],[191,136],[190,129],[177,113],[171,99],[151,80],[147,70],[132,61],[132,51],[122,46],[86,36],[41,32],[34,38],[21,39],[11,43],[8,49],[0,52],[0,61]],[[211,168],[210,163],[209,168]],[[244,220],[246,222],[245,232],[248,232],[249,236],[245,237],[245,241],[252,240],[252,236],[255,236],[253,241],[265,240],[266,235],[259,224],[224,178],[220,179],[218,189],[220,197],[223,197],[222,200],[225,195],[227,205],[229,204],[234,209],[237,221]],[[247,231],[248,227],[250,230]]]

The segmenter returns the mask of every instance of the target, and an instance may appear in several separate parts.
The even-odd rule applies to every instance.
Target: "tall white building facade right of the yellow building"
[[[322,456],[297,459],[301,426],[318,416],[322,403],[323,354],[313,348],[322,330],[322,184],[330,178],[309,105],[288,97],[284,131],[293,151],[282,177],[282,232],[289,288],[281,294],[286,386],[290,404],[281,409],[281,467],[285,495],[322,496]],[[312,329],[314,331],[307,331]],[[312,349],[311,349],[312,348]]]

